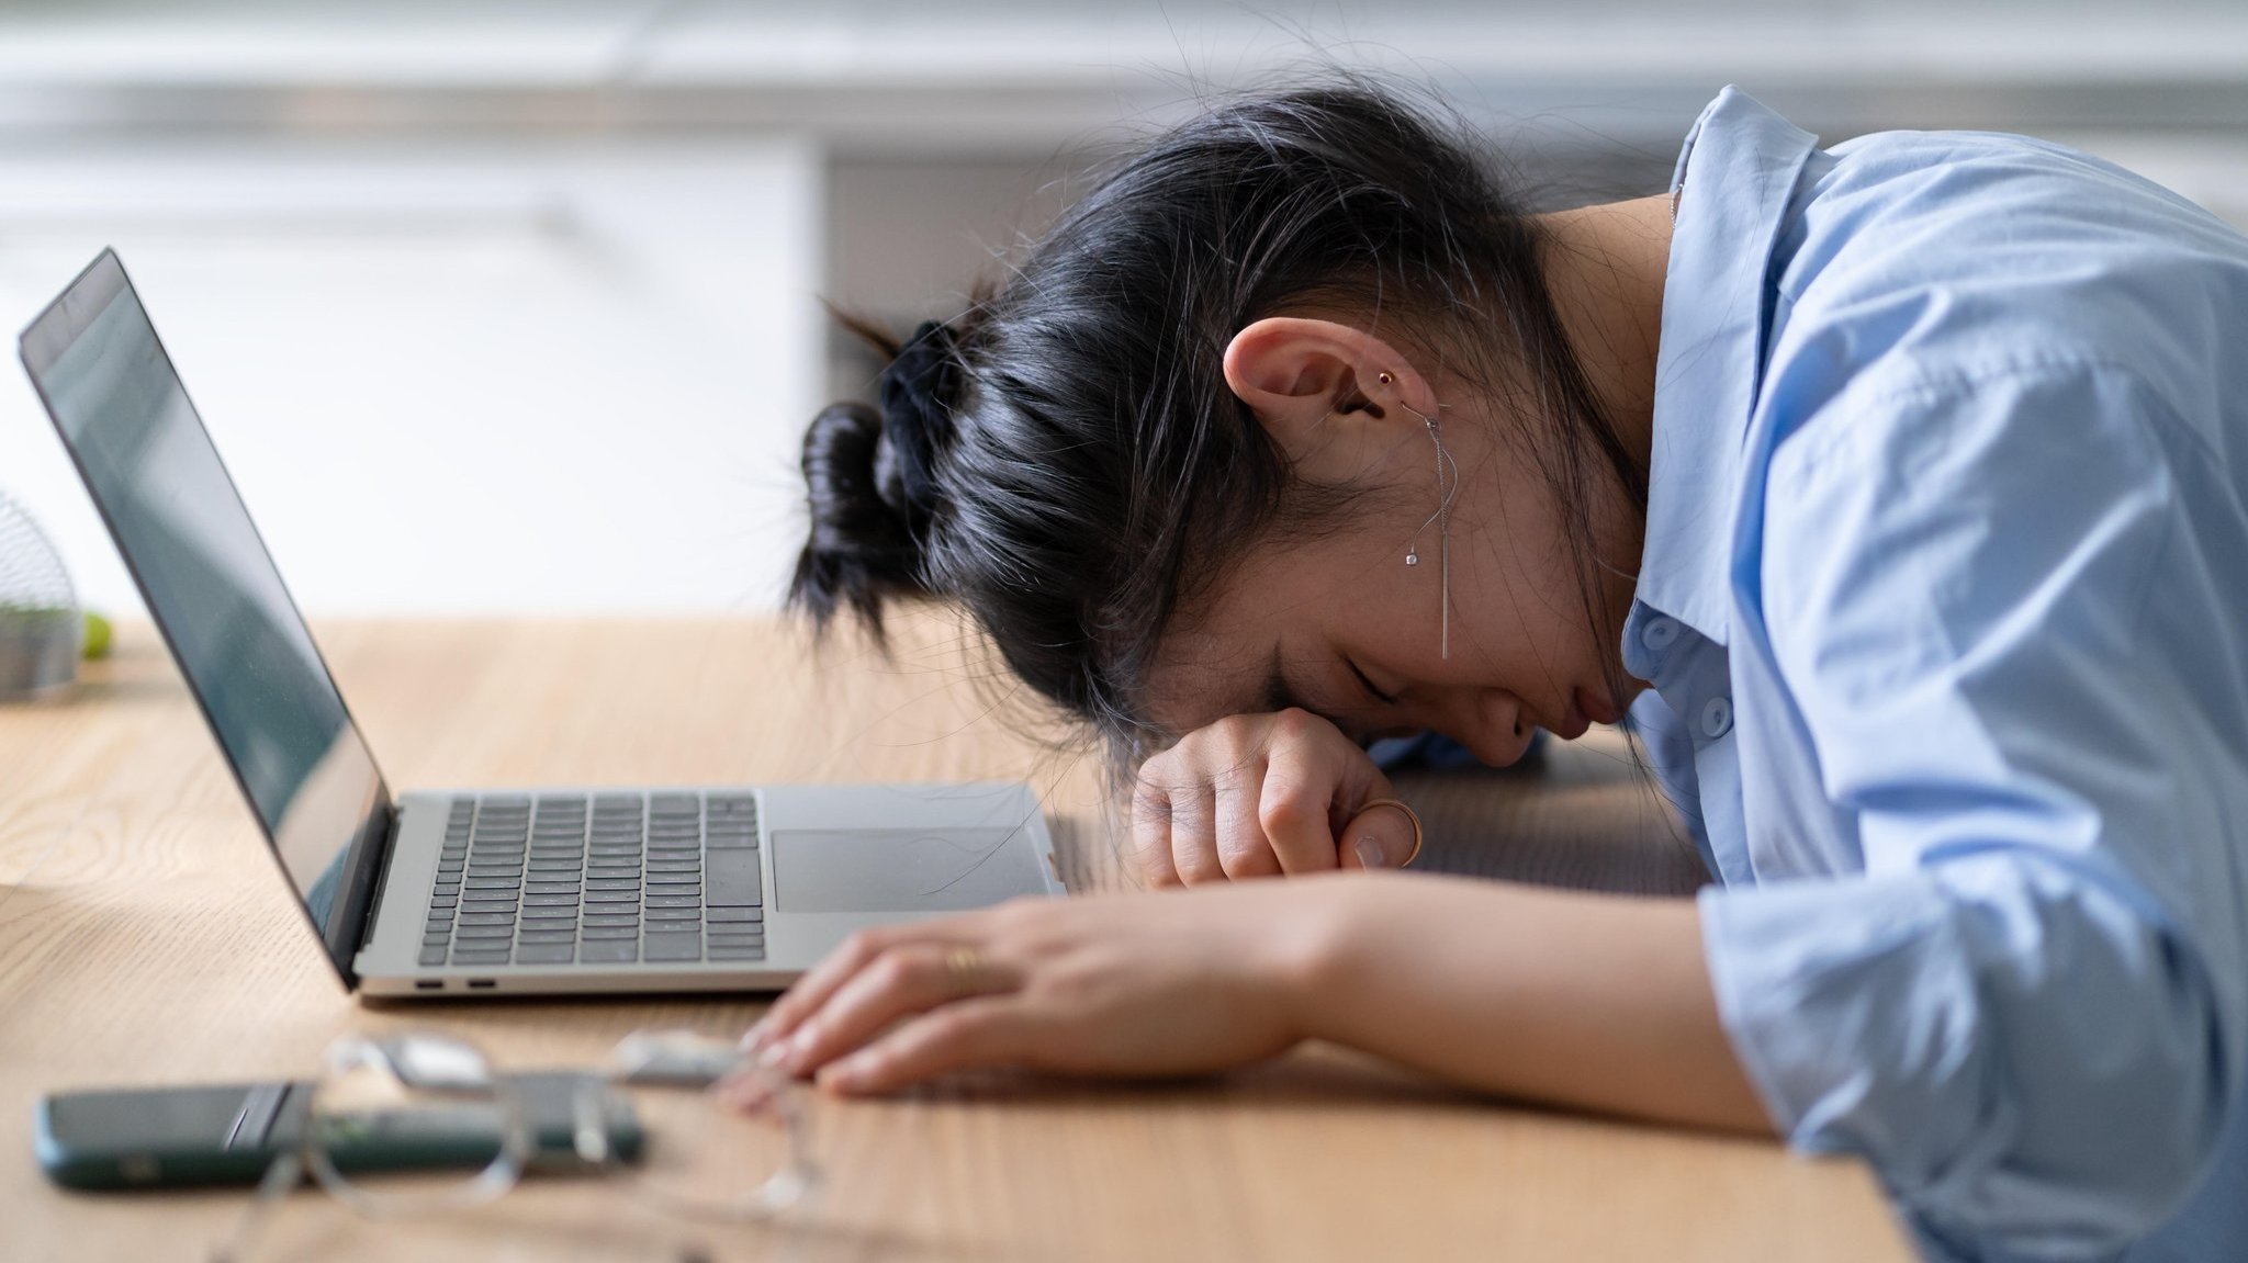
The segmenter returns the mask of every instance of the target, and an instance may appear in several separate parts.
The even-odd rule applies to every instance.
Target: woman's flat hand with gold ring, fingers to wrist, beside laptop
[[[1302,996],[1356,881],[1169,899],[1018,899],[861,930],[758,1023],[751,1047],[841,1092],[982,1065],[1196,1074],[1304,1038]]]

